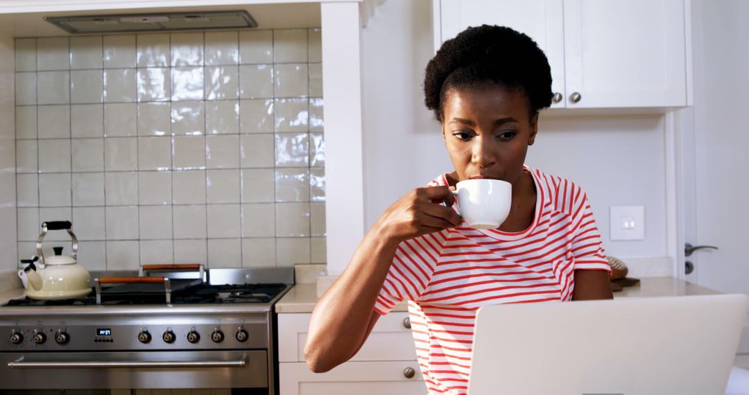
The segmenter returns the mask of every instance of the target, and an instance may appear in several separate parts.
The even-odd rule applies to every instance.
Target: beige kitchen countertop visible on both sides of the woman
[[[690,296],[718,293],[697,284],[673,277],[643,277],[640,286],[625,287],[613,293],[614,298],[642,298],[651,296]],[[0,294],[2,295],[2,294]],[[297,284],[276,303],[276,313],[312,313],[318,301],[315,284]],[[407,311],[407,304],[400,303],[393,311]]]

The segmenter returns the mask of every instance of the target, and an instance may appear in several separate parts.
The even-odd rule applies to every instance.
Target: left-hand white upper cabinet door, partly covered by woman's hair
[[[468,26],[503,25],[533,38],[551,66],[551,90],[565,95],[564,28],[562,0],[434,0],[440,7],[439,43],[455,37]],[[436,30],[435,30],[436,31]],[[565,101],[552,103],[553,108]]]

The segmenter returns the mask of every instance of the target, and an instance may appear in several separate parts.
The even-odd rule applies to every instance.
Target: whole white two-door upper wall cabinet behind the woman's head
[[[434,5],[437,46],[482,23],[508,25],[536,40],[551,65],[552,89],[560,93],[553,108],[691,104],[688,0],[434,0]]]

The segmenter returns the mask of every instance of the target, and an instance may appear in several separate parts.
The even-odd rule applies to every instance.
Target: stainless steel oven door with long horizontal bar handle
[[[267,388],[265,350],[0,353],[0,388]]]

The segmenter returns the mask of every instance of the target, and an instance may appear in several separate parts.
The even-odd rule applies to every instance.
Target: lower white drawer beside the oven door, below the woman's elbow
[[[407,369],[414,375],[408,379]],[[426,394],[416,361],[346,362],[327,373],[312,373],[303,362],[279,364],[281,395]]]

